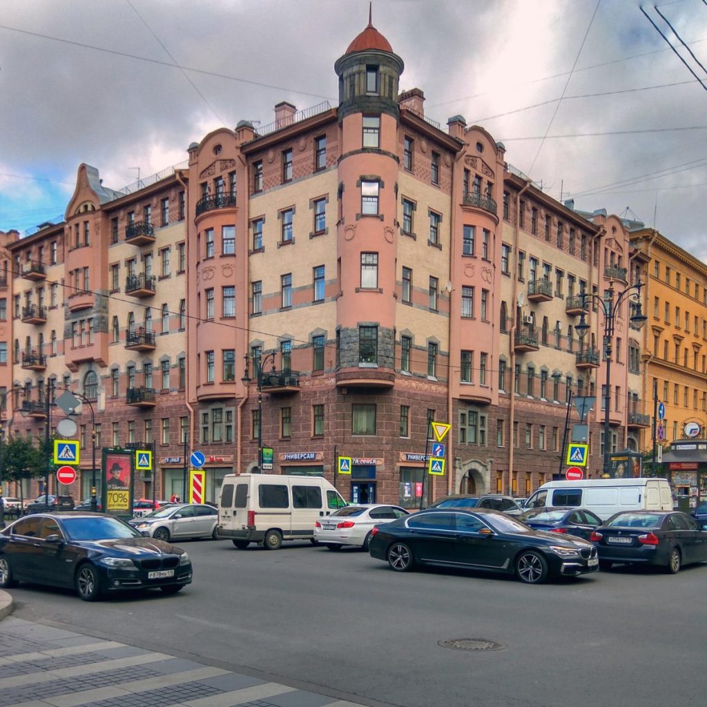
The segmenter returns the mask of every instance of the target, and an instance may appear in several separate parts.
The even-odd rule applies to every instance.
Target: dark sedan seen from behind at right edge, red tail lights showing
[[[707,529],[679,510],[625,510],[592,532],[599,566],[648,564],[677,574],[682,565],[707,561]]]

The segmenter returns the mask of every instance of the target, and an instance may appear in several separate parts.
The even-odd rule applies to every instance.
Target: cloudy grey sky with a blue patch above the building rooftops
[[[707,259],[707,0],[644,9],[697,78],[638,0],[374,0],[373,24],[428,116]],[[117,189],[281,100],[336,105],[334,61],[367,21],[368,0],[2,0],[0,230],[62,214],[82,162]]]

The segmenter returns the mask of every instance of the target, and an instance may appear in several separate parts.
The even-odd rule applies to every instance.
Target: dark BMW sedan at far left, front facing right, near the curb
[[[175,594],[192,582],[192,563],[184,550],[110,515],[37,513],[0,533],[0,588],[18,581],[73,587],[87,602],[153,587]]]

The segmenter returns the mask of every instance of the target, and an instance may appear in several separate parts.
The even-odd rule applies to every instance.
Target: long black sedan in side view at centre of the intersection
[[[532,530],[497,510],[421,510],[373,528],[369,551],[397,572],[428,564],[515,573],[530,584],[599,568],[591,543]]]

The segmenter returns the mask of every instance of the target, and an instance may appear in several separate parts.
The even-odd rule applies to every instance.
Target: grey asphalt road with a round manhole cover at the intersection
[[[22,585],[15,615],[404,707],[702,705],[707,565],[542,586],[397,574],[356,550],[182,542],[194,583],[86,604]],[[501,650],[451,650],[449,639]]]

